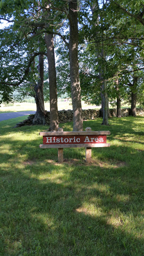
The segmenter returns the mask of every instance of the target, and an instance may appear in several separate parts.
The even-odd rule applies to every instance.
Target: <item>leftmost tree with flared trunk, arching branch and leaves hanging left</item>
[[[6,27],[5,31],[3,29],[3,34],[7,35],[7,41],[5,41],[5,37],[4,39],[1,39],[3,49],[1,49],[2,61],[0,69],[3,75],[0,77],[0,83],[3,86],[3,90],[5,87],[10,88],[11,92],[17,89],[20,91],[22,96],[24,96],[24,94],[26,95],[28,85],[28,91],[30,92],[31,88],[30,93],[34,96],[36,102],[36,114],[33,119],[33,123],[45,124],[43,100],[43,54],[40,54],[39,52],[34,53],[37,46],[33,47],[29,45],[30,43],[27,43],[24,38],[21,40],[18,39],[19,33],[16,31],[14,31],[13,39],[13,31],[11,27],[12,26],[10,26],[10,28]],[[42,41],[40,41],[40,44],[42,44]],[[35,77],[36,79],[33,79],[35,73],[34,58],[37,55],[39,55],[39,61],[36,68],[37,75]],[[34,91],[34,93],[32,91]],[[12,99],[12,97],[11,93],[10,99]],[[1,100],[4,101],[3,99],[4,98]]]

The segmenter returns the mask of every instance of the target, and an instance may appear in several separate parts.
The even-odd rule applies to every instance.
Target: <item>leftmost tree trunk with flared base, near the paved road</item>
[[[38,73],[39,79],[37,84],[34,86],[35,91],[35,103],[36,113],[32,120],[33,124],[46,124],[45,113],[44,113],[44,99],[43,99],[43,55],[38,56]]]

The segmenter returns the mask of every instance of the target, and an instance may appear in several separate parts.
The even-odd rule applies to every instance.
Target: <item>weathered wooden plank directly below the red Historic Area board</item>
[[[40,144],[40,148],[67,148],[67,147],[108,147],[109,143],[97,143],[97,144],[57,144],[57,145],[47,145]]]

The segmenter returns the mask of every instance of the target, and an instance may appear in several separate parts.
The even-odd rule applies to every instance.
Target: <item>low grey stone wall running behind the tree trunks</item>
[[[130,108],[121,108],[121,116],[128,116]],[[82,110],[83,120],[93,120],[99,117],[99,109],[85,109]],[[143,108],[136,108],[136,115],[144,116]],[[45,110],[46,123],[50,123],[50,112]],[[116,108],[109,109],[109,116],[116,116]],[[34,114],[30,114],[27,119],[22,122],[16,123],[13,128],[20,127],[23,125],[31,125],[32,119],[34,118]],[[71,109],[68,110],[60,110],[58,111],[58,120],[59,122],[69,122],[73,120],[73,111]]]

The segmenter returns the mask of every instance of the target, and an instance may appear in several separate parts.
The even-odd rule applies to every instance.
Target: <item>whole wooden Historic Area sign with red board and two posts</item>
[[[91,131],[87,127],[85,131],[41,131],[39,135],[43,136],[43,144],[40,148],[58,148],[58,162],[63,162],[63,148],[66,147],[85,147],[85,161],[91,162],[91,147],[110,146],[106,143],[106,135],[109,130]]]

